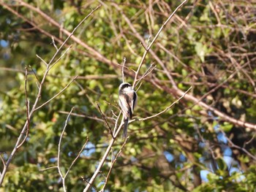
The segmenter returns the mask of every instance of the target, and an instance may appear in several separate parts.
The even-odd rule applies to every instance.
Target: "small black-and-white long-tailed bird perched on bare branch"
[[[137,104],[137,98],[137,93],[132,89],[131,84],[123,82],[119,85],[118,104],[124,116],[123,138],[127,137],[128,121],[132,119],[133,110]]]

